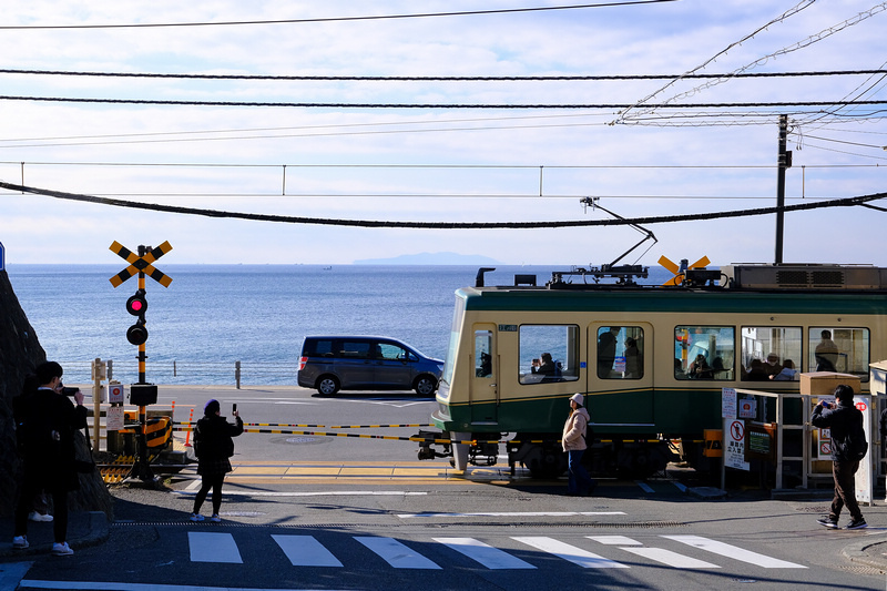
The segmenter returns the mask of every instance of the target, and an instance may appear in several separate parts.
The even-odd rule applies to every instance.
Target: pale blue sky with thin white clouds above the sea
[[[349,222],[706,214],[776,205],[786,114],[786,205],[887,190],[885,78],[848,73],[887,68],[887,3],[875,0],[13,4],[0,18],[0,181],[13,185]],[[514,11],[530,8],[549,10]],[[806,75],[692,78],[798,72]],[[832,103],[786,104],[813,101]],[[788,212],[783,261],[887,266],[885,221],[861,206]],[[657,242],[621,263],[776,258],[773,214],[644,228]],[[167,241],[170,264],[349,264],[446,252],[597,266],[643,236],[625,225],[265,222],[0,188],[7,266],[113,264],[115,241],[133,251]]]

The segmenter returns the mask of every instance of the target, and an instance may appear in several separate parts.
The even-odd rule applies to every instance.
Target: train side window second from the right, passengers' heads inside
[[[801,379],[801,327],[743,326],[743,381],[795,381]]]

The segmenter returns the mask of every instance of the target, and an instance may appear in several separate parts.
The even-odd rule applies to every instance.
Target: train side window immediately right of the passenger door
[[[735,333],[732,326],[675,326],[674,377],[733,380]]]

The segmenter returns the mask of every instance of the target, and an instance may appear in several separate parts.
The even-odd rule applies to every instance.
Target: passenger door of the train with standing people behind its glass
[[[588,338],[588,390],[594,422],[652,425],[653,326],[594,323]]]

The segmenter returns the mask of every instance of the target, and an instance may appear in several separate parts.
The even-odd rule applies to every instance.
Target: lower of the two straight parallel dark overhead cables
[[[275,106],[303,109],[631,109],[634,103],[324,103],[324,102],[265,102],[265,101],[172,101],[156,99],[88,99],[74,96],[14,96],[0,95],[0,101],[35,101],[100,104],[154,104],[166,106]],[[801,108],[887,104],[884,101],[761,101],[735,103],[684,103],[646,105],[652,109],[730,109],[730,108]]]

